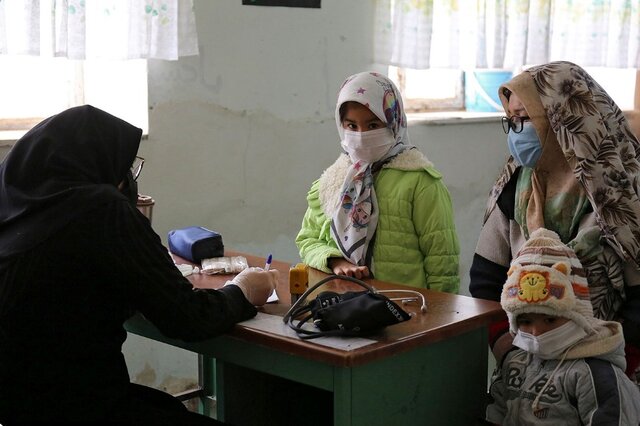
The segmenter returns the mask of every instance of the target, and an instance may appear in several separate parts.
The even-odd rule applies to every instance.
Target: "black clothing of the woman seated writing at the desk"
[[[113,150],[119,145],[112,142],[94,138],[87,143]],[[134,145],[137,150],[137,142]],[[36,155],[37,150],[25,150],[24,144],[16,147],[0,166],[5,177],[17,178],[14,171],[19,168],[12,168],[20,161],[17,153]],[[83,155],[106,151],[87,149]],[[121,178],[136,153],[126,151],[126,161],[116,161],[113,155],[104,159],[123,164],[118,166]],[[48,154],[56,157],[58,153]],[[57,158],[52,163],[61,157]],[[78,161],[67,160],[70,168]],[[30,164],[30,160],[23,163]],[[54,183],[34,178],[20,193],[28,195],[34,188],[42,194],[40,189],[55,187],[64,181],[58,177],[63,171],[57,172],[55,176],[34,172]],[[139,311],[165,335],[194,341],[223,333],[256,314],[237,286],[194,290],[174,266],[147,218],[126,197],[111,190],[122,180],[117,176],[113,174],[104,184],[82,183],[77,178],[68,191],[62,191],[72,195],[54,197],[54,204],[41,204],[36,196],[16,195],[6,179],[0,180],[3,194],[17,200],[5,208],[2,199],[3,213],[14,212],[17,219],[15,223],[0,220],[0,246],[18,241],[21,247],[17,255],[7,255],[10,249],[0,255],[0,424],[144,418],[144,413],[153,411],[153,403],[139,401],[141,392],[129,383],[121,352],[127,336],[123,322],[128,317]],[[89,205],[68,202],[80,199]],[[14,209],[20,203],[26,206],[24,211]],[[34,205],[40,210],[31,210]],[[57,217],[60,214],[68,217]],[[45,223],[33,222],[32,217]],[[25,223],[44,232],[42,238],[30,233]],[[47,223],[51,226],[43,231]],[[28,244],[22,244],[20,232],[12,234],[13,229],[26,230]],[[156,408],[158,413],[168,409]]]

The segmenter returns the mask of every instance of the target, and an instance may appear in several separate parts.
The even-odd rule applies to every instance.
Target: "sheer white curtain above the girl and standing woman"
[[[640,68],[640,0],[376,1],[374,57],[382,64]]]

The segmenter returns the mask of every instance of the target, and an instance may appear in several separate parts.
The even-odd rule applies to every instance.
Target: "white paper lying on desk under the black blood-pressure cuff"
[[[258,315],[254,318],[243,321],[240,324],[256,330],[300,340],[296,332],[287,324],[282,322],[282,317],[278,315],[269,315],[263,312],[258,312]],[[376,343],[375,340],[363,339],[362,337],[317,337],[306,341],[343,351],[352,351],[354,349]]]

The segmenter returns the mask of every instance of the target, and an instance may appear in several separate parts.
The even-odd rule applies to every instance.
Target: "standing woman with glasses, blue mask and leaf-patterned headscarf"
[[[622,322],[631,376],[640,362],[640,144],[573,63],[529,68],[499,95],[511,157],[490,193],[469,290],[499,301],[515,253],[534,230],[553,230],[584,267],[594,315]],[[506,318],[491,328],[498,362],[512,347],[507,328]]]

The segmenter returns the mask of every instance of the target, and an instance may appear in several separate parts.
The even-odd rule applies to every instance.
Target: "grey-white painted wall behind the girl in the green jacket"
[[[372,63],[373,4],[196,1],[200,56],[149,61],[140,188],[156,201],[160,235],[206,225],[227,247],[298,261],[293,238],[306,192],[340,149],[338,86],[355,72],[384,70]],[[475,216],[506,153],[497,119],[414,125],[410,135],[444,173],[461,213],[461,242],[473,245]]]

